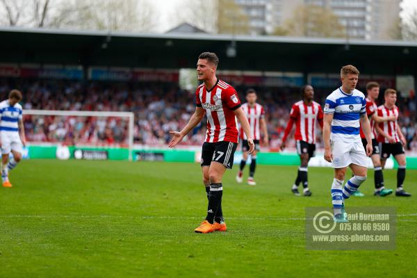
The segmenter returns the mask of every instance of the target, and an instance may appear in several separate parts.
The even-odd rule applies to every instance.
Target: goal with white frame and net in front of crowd
[[[133,150],[133,113],[24,110],[28,145],[115,147]]]

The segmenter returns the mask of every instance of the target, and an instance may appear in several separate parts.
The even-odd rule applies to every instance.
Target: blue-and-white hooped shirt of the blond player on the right
[[[333,114],[333,141],[361,142],[359,118],[366,114],[366,98],[361,91],[355,89],[349,95],[342,88],[334,90],[326,99],[324,113]]]

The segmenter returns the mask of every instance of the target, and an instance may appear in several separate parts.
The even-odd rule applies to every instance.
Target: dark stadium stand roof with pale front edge
[[[337,73],[351,63],[366,74],[417,76],[417,42],[8,27],[0,39],[1,63],[193,68],[199,53],[214,51],[222,70]]]

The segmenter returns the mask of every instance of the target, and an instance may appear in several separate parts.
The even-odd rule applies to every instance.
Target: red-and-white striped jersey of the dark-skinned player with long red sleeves
[[[295,120],[295,140],[316,144],[316,121],[323,119],[323,111],[316,101],[311,105],[297,101],[291,108],[290,117]]]

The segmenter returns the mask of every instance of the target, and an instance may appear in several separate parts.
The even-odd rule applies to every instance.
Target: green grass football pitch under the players
[[[207,203],[197,163],[24,161],[0,188],[0,277],[416,277],[417,171],[411,198],[373,197],[370,171],[366,196],[347,200],[397,208],[396,250],[311,251],[304,208],[330,206],[332,169],[311,167],[313,196],[295,197],[296,169],[259,165],[256,187],[227,171],[229,230],[195,234]]]

